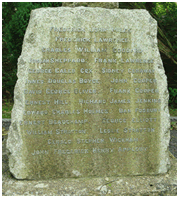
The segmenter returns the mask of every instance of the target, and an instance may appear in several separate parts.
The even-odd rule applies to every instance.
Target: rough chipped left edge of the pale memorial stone
[[[26,52],[26,49],[34,45],[34,42],[28,42],[27,39],[29,38],[29,35],[32,34],[32,25],[36,22],[38,18],[38,15],[34,16],[34,13],[35,12],[33,11],[31,12],[29,24],[23,39],[22,52],[20,57],[18,58],[18,79],[14,89],[14,105],[11,114],[12,122],[9,127],[8,139],[6,144],[6,149],[9,155],[10,172],[17,179],[26,179],[29,177],[28,164],[25,163],[26,156],[24,156],[22,153],[22,150],[24,153],[26,152],[26,147],[23,144],[23,138],[22,133],[20,132],[19,121],[23,120],[23,109],[25,106],[25,95],[23,90],[25,87],[25,80],[28,76],[28,73],[26,72],[28,69],[28,64],[26,63],[28,62],[28,60],[30,60],[30,55]],[[33,22],[34,19],[35,22]],[[16,125],[16,129],[14,129],[13,125]]]

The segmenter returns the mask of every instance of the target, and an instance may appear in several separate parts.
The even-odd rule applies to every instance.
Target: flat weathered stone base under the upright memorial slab
[[[176,196],[177,160],[170,154],[167,174],[136,177],[60,178],[17,180],[3,155],[2,196]]]

